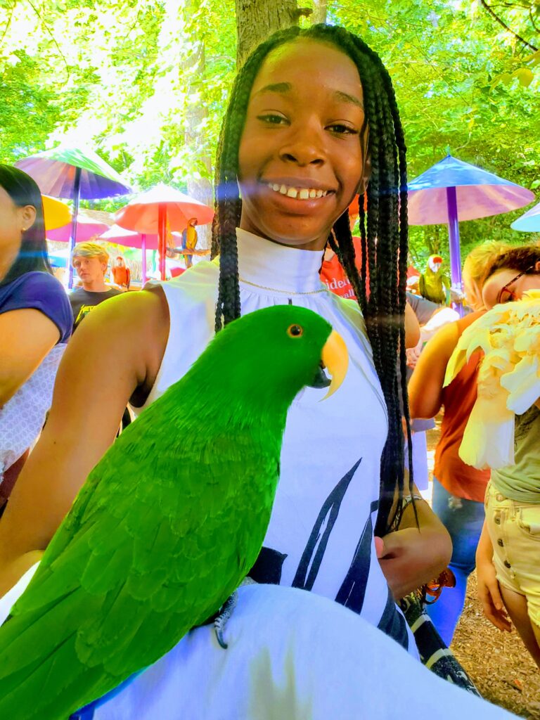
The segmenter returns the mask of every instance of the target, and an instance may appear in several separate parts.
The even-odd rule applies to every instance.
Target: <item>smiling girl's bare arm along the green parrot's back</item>
[[[0,596],[48,545],[135,388],[148,394],[167,337],[166,300],[152,291],[102,303],[68,343],[48,422],[0,521]]]

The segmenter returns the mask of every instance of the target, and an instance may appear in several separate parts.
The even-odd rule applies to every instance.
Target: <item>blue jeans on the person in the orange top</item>
[[[449,646],[465,604],[467,577],[475,567],[474,556],[484,524],[484,503],[454,498],[433,477],[432,508],[452,539],[449,567],[456,576],[456,587],[444,588],[441,597],[433,605],[428,605],[426,611],[438,634]]]

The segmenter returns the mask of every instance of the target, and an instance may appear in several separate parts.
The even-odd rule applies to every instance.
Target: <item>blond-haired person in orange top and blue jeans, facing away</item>
[[[452,539],[449,567],[456,576],[456,587],[445,588],[427,611],[448,646],[463,611],[467,578],[475,567],[474,556],[484,523],[485,489],[490,479],[489,470],[465,464],[458,454],[477,398],[480,351],[469,358],[447,387],[443,387],[443,381],[446,365],[463,331],[486,311],[482,285],[487,269],[507,248],[504,243],[488,241],[469,253],[463,278],[467,301],[474,312],[438,330],[420,355],[409,383],[411,418],[433,418],[444,407],[441,438],[435,450],[432,507]]]

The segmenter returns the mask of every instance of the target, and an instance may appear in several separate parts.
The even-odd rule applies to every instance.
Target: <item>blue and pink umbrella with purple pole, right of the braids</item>
[[[459,221],[500,215],[533,199],[521,185],[449,154],[408,184],[409,225],[448,225],[451,284],[461,292]]]

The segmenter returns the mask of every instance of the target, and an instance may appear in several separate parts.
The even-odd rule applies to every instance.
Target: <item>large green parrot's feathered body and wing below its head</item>
[[[91,472],[0,628],[0,717],[64,720],[212,616],[255,562],[280,433],[171,442],[158,405]]]

